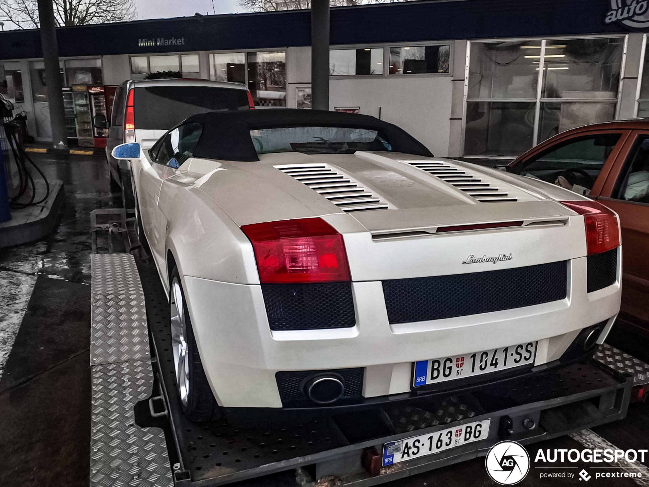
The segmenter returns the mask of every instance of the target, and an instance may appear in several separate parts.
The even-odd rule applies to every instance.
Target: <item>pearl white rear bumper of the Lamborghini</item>
[[[565,299],[416,323],[389,323],[381,282],[352,282],[356,325],[309,331],[271,331],[261,286],[196,277],[184,277],[183,285],[219,405],[282,408],[278,371],[363,368],[362,395],[369,401],[410,397],[417,360],[538,341],[534,367],[539,367],[559,360],[582,329],[607,321],[601,343],[620,306],[619,263],[617,281],[591,293],[586,258],[572,259],[568,267]],[[478,378],[480,384],[485,380]]]

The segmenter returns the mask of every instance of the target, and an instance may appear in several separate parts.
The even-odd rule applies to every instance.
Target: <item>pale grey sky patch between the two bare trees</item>
[[[246,12],[236,0],[136,0],[136,6],[138,19],[193,16],[196,12],[203,15]]]

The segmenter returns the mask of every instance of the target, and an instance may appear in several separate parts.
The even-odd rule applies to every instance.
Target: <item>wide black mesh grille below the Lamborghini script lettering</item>
[[[567,263],[383,281],[390,323],[522,308],[566,297]]]

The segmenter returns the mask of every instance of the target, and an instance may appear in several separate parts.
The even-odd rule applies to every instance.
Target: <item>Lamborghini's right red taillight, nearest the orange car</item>
[[[620,245],[620,227],[613,211],[596,201],[561,201],[583,215],[587,255],[606,252]]]

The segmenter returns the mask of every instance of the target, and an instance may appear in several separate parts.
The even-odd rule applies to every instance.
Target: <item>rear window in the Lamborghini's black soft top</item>
[[[258,154],[353,154],[356,151],[391,151],[378,131],[349,127],[280,127],[251,130]]]

